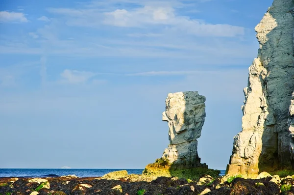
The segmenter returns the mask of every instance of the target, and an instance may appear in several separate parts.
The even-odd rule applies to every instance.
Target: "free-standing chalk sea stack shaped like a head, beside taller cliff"
[[[204,124],[204,102],[205,97],[193,91],[168,95],[166,111],[162,113],[162,120],[167,121],[169,125],[170,145],[165,149],[160,159],[147,165],[143,173],[189,177],[189,175],[185,175],[183,170],[188,170],[187,174],[191,174],[193,171],[199,172],[198,169],[191,170],[196,167],[207,170],[207,165],[200,163],[196,140],[200,137]],[[216,174],[218,174],[217,172]]]

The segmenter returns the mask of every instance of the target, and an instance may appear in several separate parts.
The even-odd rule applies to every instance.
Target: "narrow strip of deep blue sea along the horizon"
[[[0,168],[0,177],[100,177],[117,170],[127,170],[128,174],[142,174],[144,169]],[[221,170],[220,175],[224,174],[225,170]]]

